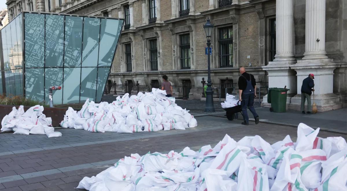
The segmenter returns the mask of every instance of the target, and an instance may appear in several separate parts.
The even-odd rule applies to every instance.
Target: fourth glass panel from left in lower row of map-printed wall
[[[82,68],[81,76],[81,102],[87,98],[95,101],[96,95],[96,73],[98,68]]]

